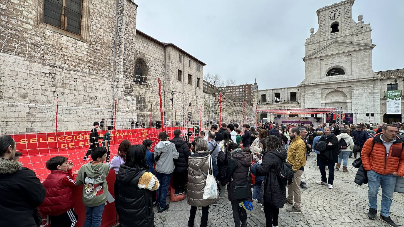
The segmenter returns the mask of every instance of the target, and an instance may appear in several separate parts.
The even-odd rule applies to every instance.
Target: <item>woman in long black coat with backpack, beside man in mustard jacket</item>
[[[277,136],[269,135],[257,176],[265,176],[260,190],[261,201],[265,208],[267,226],[278,226],[279,208],[286,203],[286,187],[278,179],[280,169],[286,160],[286,150]],[[274,171],[271,171],[274,170]]]

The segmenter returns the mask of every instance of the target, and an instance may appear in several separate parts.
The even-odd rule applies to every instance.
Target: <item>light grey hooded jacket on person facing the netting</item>
[[[161,154],[161,155],[160,155]],[[174,159],[178,159],[179,153],[175,145],[170,141],[160,141],[154,147],[154,158],[160,155],[160,159],[156,162],[156,171],[159,173],[173,173]]]

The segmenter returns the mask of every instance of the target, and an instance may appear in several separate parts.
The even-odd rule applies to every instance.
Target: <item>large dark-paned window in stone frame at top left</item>
[[[80,35],[82,0],[44,0],[44,22]]]

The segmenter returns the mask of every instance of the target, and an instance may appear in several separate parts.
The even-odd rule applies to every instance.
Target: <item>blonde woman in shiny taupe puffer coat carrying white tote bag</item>
[[[195,153],[188,158],[188,184],[187,196],[188,204],[191,205],[189,212],[188,227],[194,227],[195,214],[198,207],[202,206],[201,227],[208,225],[209,205],[216,199],[203,199],[206,177],[209,173],[210,154],[206,140],[197,140],[195,144]],[[217,164],[215,158],[212,158],[213,176],[217,175]]]

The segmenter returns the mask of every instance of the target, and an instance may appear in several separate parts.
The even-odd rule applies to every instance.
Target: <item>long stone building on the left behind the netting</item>
[[[133,0],[0,2],[0,132],[87,130],[102,118],[116,128],[148,124],[160,119],[159,78],[165,120],[199,111],[206,64],[137,30],[137,8]]]

